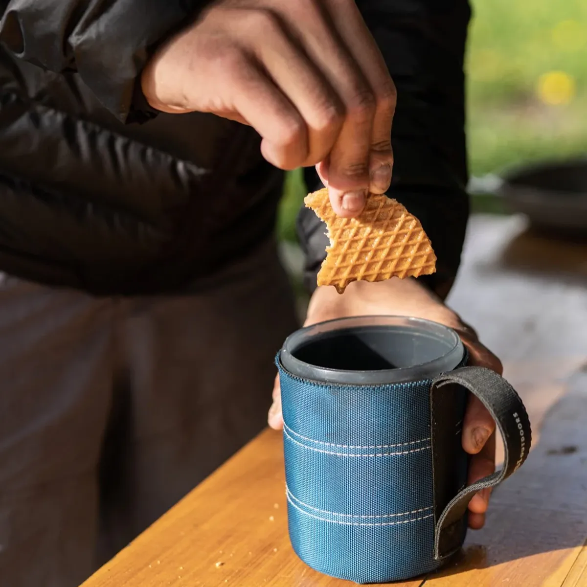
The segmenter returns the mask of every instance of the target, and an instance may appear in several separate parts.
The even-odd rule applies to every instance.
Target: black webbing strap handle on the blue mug
[[[451,458],[451,451],[454,454],[455,443],[460,444],[460,435],[456,437],[450,421],[454,422],[456,398],[462,397],[464,390],[477,396],[495,420],[504,440],[504,465],[495,473],[462,488],[448,501],[446,460]],[[462,367],[434,379],[430,390],[430,415],[436,521],[434,557],[441,561],[454,554],[463,542],[466,531],[464,514],[473,495],[484,488],[495,487],[524,463],[530,448],[531,429],[524,404],[514,388],[503,377],[484,367]]]

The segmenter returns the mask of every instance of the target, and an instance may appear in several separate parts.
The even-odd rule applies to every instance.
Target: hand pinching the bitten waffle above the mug
[[[154,55],[141,87],[163,112],[250,124],[276,167],[316,165],[340,216],[389,188],[396,89],[353,0],[218,0]]]

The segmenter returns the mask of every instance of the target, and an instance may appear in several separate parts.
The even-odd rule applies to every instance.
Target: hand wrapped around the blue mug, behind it
[[[305,325],[316,322],[362,315],[417,316],[450,326],[458,332],[470,353],[470,364],[488,367],[501,374],[500,360],[485,348],[477,334],[460,317],[443,304],[415,279],[389,279],[370,284],[354,282],[343,295],[334,288],[316,289],[308,308]],[[269,426],[279,430],[283,426],[279,378],[275,378],[274,403],[269,410]],[[473,455],[470,461],[468,483],[474,483],[495,470],[495,422],[483,403],[470,394],[463,420],[463,448]],[[469,504],[469,526],[481,528],[491,490],[474,495]]]

